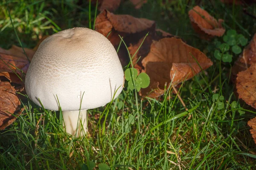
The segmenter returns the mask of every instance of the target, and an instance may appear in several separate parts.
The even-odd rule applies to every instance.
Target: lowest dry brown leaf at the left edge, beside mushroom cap
[[[9,82],[0,82],[0,130],[11,125],[22,111],[14,87]]]

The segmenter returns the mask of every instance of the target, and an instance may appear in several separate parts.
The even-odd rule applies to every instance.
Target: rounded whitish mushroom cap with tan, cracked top
[[[47,37],[26,73],[25,88],[35,104],[58,111],[98,108],[122,91],[124,73],[111,42],[88,28]],[[58,96],[58,99],[57,99]],[[58,104],[59,102],[59,104]]]

